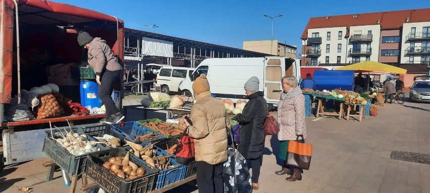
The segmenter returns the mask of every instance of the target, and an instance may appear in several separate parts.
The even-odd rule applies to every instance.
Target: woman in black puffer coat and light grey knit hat
[[[243,125],[240,130],[239,152],[251,162],[252,188],[258,189],[258,177],[264,150],[264,121],[266,119],[267,103],[264,93],[258,91],[259,80],[251,77],[245,83],[245,92],[249,101],[243,108],[243,114],[237,114],[236,119]]]

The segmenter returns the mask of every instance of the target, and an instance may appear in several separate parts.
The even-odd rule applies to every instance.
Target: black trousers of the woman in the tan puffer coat
[[[223,164],[208,164],[204,161],[196,162],[197,187],[202,193],[223,193]]]

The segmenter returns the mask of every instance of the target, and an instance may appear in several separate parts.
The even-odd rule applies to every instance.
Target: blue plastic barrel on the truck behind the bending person
[[[97,96],[98,84],[93,81],[81,81],[81,104],[82,106],[101,107],[101,100]]]

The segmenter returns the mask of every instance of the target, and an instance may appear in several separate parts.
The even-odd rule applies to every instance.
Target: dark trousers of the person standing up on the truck
[[[121,71],[106,70],[100,77],[101,85],[98,85],[98,98],[103,102],[106,108],[105,117],[110,117],[112,114],[120,112],[112,99],[112,92],[115,84],[120,79]]]

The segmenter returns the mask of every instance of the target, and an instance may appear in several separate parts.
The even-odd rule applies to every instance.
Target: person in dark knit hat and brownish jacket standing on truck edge
[[[125,116],[121,114],[111,95],[123,68],[115,57],[114,51],[105,40],[99,37],[93,38],[87,32],[78,34],[78,43],[88,49],[88,63],[94,69],[95,81],[99,85],[98,98],[106,107],[105,116],[100,122],[108,124],[120,122]]]

